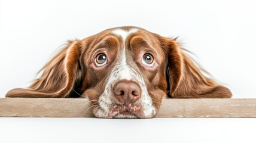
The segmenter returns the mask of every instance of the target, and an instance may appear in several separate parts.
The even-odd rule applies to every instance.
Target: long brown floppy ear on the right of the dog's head
[[[175,40],[160,38],[167,56],[169,95],[172,98],[231,98],[230,90],[203,75]]]

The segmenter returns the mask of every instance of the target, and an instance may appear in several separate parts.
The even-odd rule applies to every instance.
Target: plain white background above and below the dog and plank
[[[66,40],[138,26],[179,36],[233,98],[255,98],[255,7],[253,0],[0,0],[0,97],[28,86]],[[255,119],[0,118],[1,142],[255,142],[255,130]]]

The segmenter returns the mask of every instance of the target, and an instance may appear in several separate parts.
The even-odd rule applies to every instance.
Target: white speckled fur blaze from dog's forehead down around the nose
[[[117,64],[114,69],[111,71],[111,74],[108,77],[105,90],[102,95],[99,97],[100,109],[96,111],[95,115],[97,117],[108,117],[111,108],[118,103],[118,100],[115,99],[112,87],[115,82],[122,79],[135,80],[139,83],[141,87],[141,98],[135,102],[135,104],[140,105],[143,111],[143,117],[151,117],[156,114],[156,108],[153,107],[153,102],[148,94],[147,86],[142,76],[136,72],[132,67],[130,67],[126,62],[126,47],[125,41],[127,36],[131,33],[138,31],[138,29],[131,29],[129,31],[122,29],[115,29],[112,31],[115,35],[119,35],[123,38],[123,49],[120,50],[120,53],[117,55]],[[116,116],[121,118],[131,118],[131,116]]]

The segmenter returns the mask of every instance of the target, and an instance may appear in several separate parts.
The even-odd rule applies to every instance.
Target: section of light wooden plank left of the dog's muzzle
[[[85,98],[0,98],[0,117],[93,117],[89,107]]]

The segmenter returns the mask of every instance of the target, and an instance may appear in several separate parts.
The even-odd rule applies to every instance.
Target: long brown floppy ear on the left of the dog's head
[[[40,70],[43,71],[41,77],[28,89],[12,89],[6,97],[68,97],[82,78],[80,54],[81,41],[69,41],[68,45]]]

